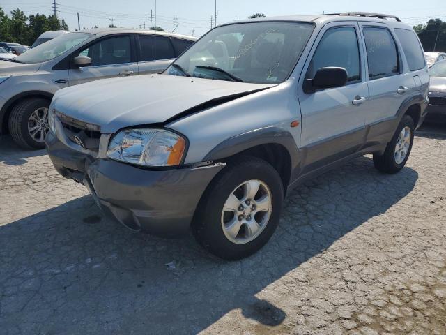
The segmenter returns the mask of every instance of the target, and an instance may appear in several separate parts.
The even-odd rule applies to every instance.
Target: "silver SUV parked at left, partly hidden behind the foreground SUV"
[[[92,29],[63,34],[0,61],[0,134],[44,148],[53,94],[91,80],[164,70],[197,38],[157,31]]]

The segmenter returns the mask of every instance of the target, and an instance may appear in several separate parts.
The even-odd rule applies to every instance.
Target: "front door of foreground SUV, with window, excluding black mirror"
[[[328,24],[305,64],[299,89],[301,145],[307,149],[305,172],[352,154],[364,141],[369,92],[360,38],[356,22]],[[319,68],[328,66],[347,70],[346,85],[306,94],[303,80],[314,78]]]

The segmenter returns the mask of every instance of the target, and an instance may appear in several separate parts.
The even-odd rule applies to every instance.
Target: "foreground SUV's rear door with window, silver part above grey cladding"
[[[415,80],[403,64],[397,38],[386,24],[360,22],[367,54],[369,105],[366,124],[376,124],[394,117]]]

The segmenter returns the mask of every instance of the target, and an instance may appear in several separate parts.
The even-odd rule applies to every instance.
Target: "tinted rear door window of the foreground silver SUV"
[[[397,45],[385,28],[364,27],[364,39],[369,63],[369,78],[399,73]]]

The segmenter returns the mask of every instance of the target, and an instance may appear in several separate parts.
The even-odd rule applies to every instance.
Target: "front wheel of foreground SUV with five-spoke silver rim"
[[[245,186],[247,181],[249,186]],[[258,192],[249,197],[247,190],[255,190],[257,184],[259,184]],[[241,185],[243,186],[238,188]],[[235,194],[240,198],[236,199],[239,202],[233,202],[236,205],[229,207],[238,206],[238,209],[223,211],[224,205],[227,204],[226,200],[229,201],[229,196]],[[232,196],[231,199],[234,200]],[[246,202],[244,199],[251,200]],[[283,200],[282,179],[270,164],[255,157],[238,158],[229,162],[203,193],[192,224],[192,232],[201,246],[220,258],[225,260],[245,258],[259,251],[275,232]],[[240,211],[242,203],[246,208]],[[270,210],[265,211],[264,208],[269,204],[271,204],[268,207]],[[256,205],[259,208],[254,209]],[[240,216],[243,216],[243,220]],[[232,227],[230,223],[234,223],[234,227],[240,225],[237,235],[233,234],[237,228],[234,230],[225,228],[226,225]],[[251,227],[253,229],[250,229]]]

